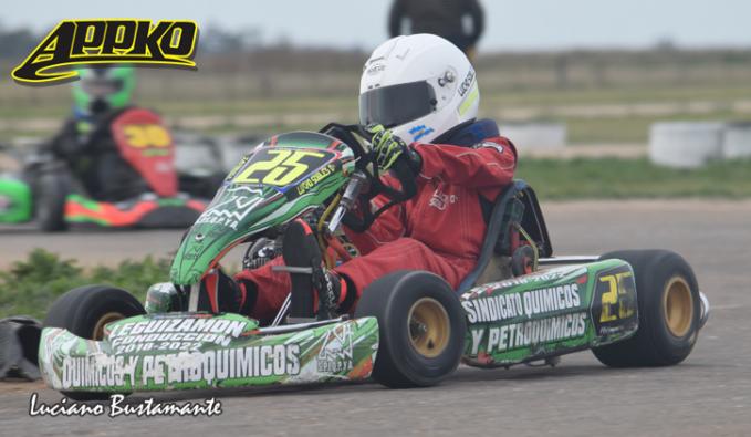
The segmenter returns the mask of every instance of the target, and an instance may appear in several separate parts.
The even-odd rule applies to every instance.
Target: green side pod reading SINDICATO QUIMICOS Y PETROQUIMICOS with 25
[[[624,340],[638,327],[628,263],[570,266],[477,287],[461,296],[465,362],[512,365]]]

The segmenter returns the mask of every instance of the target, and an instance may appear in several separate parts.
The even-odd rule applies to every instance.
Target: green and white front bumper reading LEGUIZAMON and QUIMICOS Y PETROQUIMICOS
[[[103,341],[46,327],[40,370],[59,391],[128,393],[364,379],[378,350],[375,318],[262,335],[238,314],[140,315]]]

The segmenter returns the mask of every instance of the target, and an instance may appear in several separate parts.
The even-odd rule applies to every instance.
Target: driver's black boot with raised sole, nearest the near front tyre
[[[346,294],[346,282],[325,268],[315,235],[304,220],[298,219],[288,226],[282,257],[292,280],[291,321],[313,315],[313,293],[319,298],[317,319],[336,318],[341,298]]]

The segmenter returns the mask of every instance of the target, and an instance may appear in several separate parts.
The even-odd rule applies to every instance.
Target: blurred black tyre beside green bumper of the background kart
[[[61,169],[40,173],[34,193],[36,222],[45,232],[67,229],[65,222],[65,199],[71,190],[67,174]]]

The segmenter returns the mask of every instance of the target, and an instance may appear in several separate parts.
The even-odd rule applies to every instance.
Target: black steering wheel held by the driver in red
[[[324,126],[321,133],[331,135],[350,146],[353,150],[356,164],[355,168],[362,171],[367,181],[369,183],[369,189],[366,193],[359,195],[359,211],[363,217],[357,217],[352,212],[347,212],[344,216],[344,225],[356,232],[366,231],[371,225],[375,221],[378,216],[385,212],[388,208],[394,205],[407,201],[411,199],[417,194],[417,183],[416,175],[409,168],[409,164],[404,155],[394,163],[394,166],[389,170],[396,180],[398,180],[401,189],[390,187],[380,180],[380,174],[378,165],[375,162],[375,155],[372,149],[366,149],[363,144],[355,137],[355,134],[367,142],[373,139],[372,133],[369,133],[365,126],[358,124],[343,125],[338,123],[330,123]],[[375,212],[371,211],[371,200],[378,195],[384,195],[388,198],[388,202],[383,207],[378,208]]]

